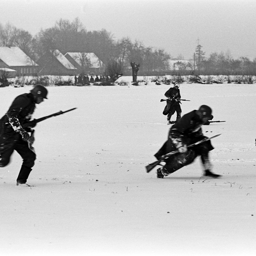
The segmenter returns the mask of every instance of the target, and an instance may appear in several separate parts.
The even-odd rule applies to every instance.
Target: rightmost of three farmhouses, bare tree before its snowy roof
[[[99,75],[104,72],[104,64],[93,52],[67,52],[65,57],[79,73]]]

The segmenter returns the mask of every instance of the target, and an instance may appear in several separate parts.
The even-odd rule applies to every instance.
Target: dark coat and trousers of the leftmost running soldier
[[[27,141],[16,131],[31,119],[35,110],[32,93],[17,96],[7,113],[0,119],[0,167],[9,164],[10,157],[16,150],[23,158],[22,166],[29,172],[35,164],[36,154],[29,148]],[[30,132],[30,128],[25,128]]]

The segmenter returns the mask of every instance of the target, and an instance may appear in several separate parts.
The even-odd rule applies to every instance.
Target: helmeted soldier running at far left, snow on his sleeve
[[[0,119],[0,167],[5,167],[10,162],[13,151],[16,150],[23,159],[22,167],[17,177],[17,186],[25,184],[30,171],[35,164],[36,154],[30,145],[34,140],[33,127],[30,125],[23,129],[23,125],[30,121],[36,108],[47,99],[47,89],[42,85],[36,85],[30,93],[17,96],[7,113]],[[28,186],[28,185],[26,185]]]

